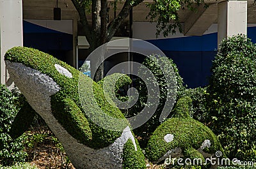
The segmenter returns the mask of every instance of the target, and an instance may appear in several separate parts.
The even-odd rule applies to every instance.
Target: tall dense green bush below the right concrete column
[[[211,128],[230,158],[256,159],[256,45],[246,36],[223,40],[209,85]]]

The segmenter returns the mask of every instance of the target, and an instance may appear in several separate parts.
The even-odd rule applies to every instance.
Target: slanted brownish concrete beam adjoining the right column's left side
[[[201,36],[217,20],[217,4],[209,4],[204,8],[204,4],[198,6],[197,11],[184,22],[184,35]]]

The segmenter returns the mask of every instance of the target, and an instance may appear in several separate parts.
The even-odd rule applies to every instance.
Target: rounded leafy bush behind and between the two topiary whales
[[[163,69],[164,71],[167,72],[168,74],[167,76],[164,76],[164,73],[161,70],[158,62],[162,62],[161,65],[163,64],[166,65],[164,66]],[[143,110],[144,107],[150,107],[150,105],[158,104],[157,110],[154,113],[154,115],[152,115],[152,117],[145,124],[143,124],[143,126],[141,126],[140,128],[134,129],[134,133],[147,138],[157,128],[157,126],[161,124],[161,122],[159,122],[159,117],[162,113],[164,105],[166,104],[165,103],[167,99],[166,97],[170,97],[170,96],[167,96],[167,92],[173,93],[173,91],[177,91],[177,98],[179,98],[182,92],[184,91],[185,87],[183,85],[184,82],[179,75],[179,70],[177,69],[177,66],[172,61],[172,59],[150,55],[150,57],[147,57],[145,59],[145,61],[143,62],[143,65],[146,66],[148,70],[156,77],[158,84],[152,84],[151,79],[149,79],[150,80],[149,83],[152,85],[158,85],[159,93],[160,93],[159,103],[147,104],[147,99],[148,99],[147,90],[152,90],[152,89],[147,89],[148,86],[145,84],[145,82],[143,82],[143,80],[141,80],[141,78],[139,78],[138,81],[136,82],[137,84],[136,88],[139,91],[139,98],[136,105],[134,105],[134,107],[132,107],[129,110],[129,116],[138,114],[139,112],[141,112],[141,110]],[[171,71],[170,66],[172,66],[173,71]],[[145,70],[145,68],[141,67],[139,70],[139,74],[145,75],[146,73],[148,73],[148,71]],[[166,80],[166,78],[168,78],[171,84],[167,84],[168,81]],[[171,86],[171,89],[168,89],[168,85]],[[156,91],[153,91],[153,92],[156,92]],[[171,101],[173,101],[173,103],[175,103],[176,98],[168,98],[168,99],[170,99]]]

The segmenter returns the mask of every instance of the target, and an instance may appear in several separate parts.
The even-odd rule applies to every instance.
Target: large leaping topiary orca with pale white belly
[[[93,84],[96,105],[84,98],[90,107],[100,107],[104,114],[124,119],[120,110],[106,100],[101,85],[33,48],[14,47],[6,52],[5,61],[10,77],[29,103],[20,109],[13,122],[13,137],[24,133],[37,113],[58,137],[77,169],[145,168],[144,156],[128,122],[123,132],[111,131],[86,116],[87,110],[79,101],[79,80],[84,83],[84,91],[90,90],[86,84]]]

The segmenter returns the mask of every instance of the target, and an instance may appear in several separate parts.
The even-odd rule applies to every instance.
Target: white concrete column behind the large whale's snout
[[[4,64],[5,52],[23,45],[22,0],[0,1],[1,84],[6,84],[8,73]]]

